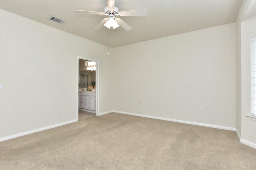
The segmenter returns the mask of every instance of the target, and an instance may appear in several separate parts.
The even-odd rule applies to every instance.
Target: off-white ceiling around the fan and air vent
[[[120,11],[141,10],[146,17],[120,17],[131,27],[109,30],[94,27],[104,16],[75,14],[74,10],[104,12],[105,0],[0,0],[0,8],[57,29],[110,47],[128,45],[236,21],[242,0],[116,0]],[[49,21],[56,16],[67,21],[60,25]]]

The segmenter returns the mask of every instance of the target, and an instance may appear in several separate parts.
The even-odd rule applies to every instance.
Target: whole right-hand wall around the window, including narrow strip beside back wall
[[[244,0],[236,20],[236,129],[242,140],[254,145],[256,122],[246,115],[250,115],[250,38],[256,37],[255,11],[256,2]]]

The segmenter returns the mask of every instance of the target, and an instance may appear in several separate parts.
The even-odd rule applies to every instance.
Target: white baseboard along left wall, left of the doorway
[[[41,127],[39,129],[34,129],[34,130],[31,130],[31,131],[26,131],[26,132],[22,132],[22,133],[18,133],[18,134],[15,134],[15,135],[10,135],[10,136],[7,136],[7,137],[2,137],[0,138],[0,142],[2,141],[7,141],[9,139],[13,139],[13,138],[16,138],[16,137],[21,137],[21,136],[25,136],[25,135],[29,135],[31,133],[36,133],[36,132],[40,132],[40,131],[44,131],[44,130],[47,130],[47,129],[52,129],[54,127],[58,127],[58,126],[62,126],[62,125],[66,125],[66,124],[69,124],[69,123],[74,123],[78,121],[77,119],[74,119],[74,120],[70,120],[70,121],[65,121],[65,122],[62,122],[62,123],[58,123],[58,124],[55,124],[55,125],[50,125],[50,126],[46,126],[46,127]]]

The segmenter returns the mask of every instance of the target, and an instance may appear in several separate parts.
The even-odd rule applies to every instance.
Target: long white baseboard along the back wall
[[[166,120],[166,121],[173,121],[173,122],[185,123],[185,124],[190,124],[190,125],[198,125],[198,126],[204,126],[204,127],[212,127],[212,128],[216,128],[216,129],[224,129],[224,130],[229,130],[229,131],[236,131],[236,128],[235,128],[235,127],[226,127],[226,126],[219,126],[219,125],[211,125],[211,124],[198,123],[198,122],[192,122],[192,121],[184,121],[184,120],[178,120],[178,119],[170,119],[170,118],[165,118],[165,117],[141,115],[141,114],[137,114],[137,113],[128,113],[128,112],[116,111],[116,110],[113,110],[112,112],[114,112],[114,113],[126,114],[126,115],[134,115],[134,116],[139,116],[139,117],[147,117],[147,118],[151,118],[151,119],[160,119],[160,120]]]

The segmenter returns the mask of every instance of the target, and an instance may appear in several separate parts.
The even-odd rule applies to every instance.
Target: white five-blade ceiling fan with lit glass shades
[[[94,29],[99,30],[104,25],[107,28],[113,27],[113,29],[121,26],[126,31],[130,31],[132,27],[130,27],[127,23],[125,23],[121,18],[116,18],[118,16],[146,16],[146,10],[132,10],[132,11],[121,11],[119,12],[118,8],[115,7],[115,0],[106,0],[106,8],[104,8],[104,12],[95,12],[95,11],[84,11],[84,10],[74,10],[75,13],[82,14],[92,14],[92,15],[104,15],[108,18],[103,19]]]

